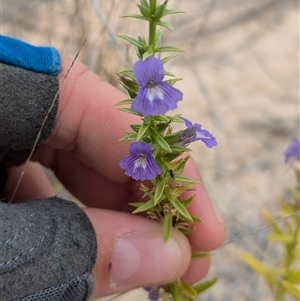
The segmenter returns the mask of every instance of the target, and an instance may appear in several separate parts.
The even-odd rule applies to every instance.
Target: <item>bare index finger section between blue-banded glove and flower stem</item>
[[[125,114],[114,106],[126,96],[98,77],[80,62],[62,60],[58,76],[61,84],[56,124],[46,141],[54,149],[68,151],[107,179],[126,182],[119,167],[128,145],[119,140],[137,116]],[[67,77],[64,77],[68,70]]]

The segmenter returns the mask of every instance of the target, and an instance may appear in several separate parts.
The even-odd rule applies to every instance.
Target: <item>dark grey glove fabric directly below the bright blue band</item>
[[[0,62],[0,162],[24,163],[34,146],[46,140],[55,123],[59,83],[56,76],[37,73]]]

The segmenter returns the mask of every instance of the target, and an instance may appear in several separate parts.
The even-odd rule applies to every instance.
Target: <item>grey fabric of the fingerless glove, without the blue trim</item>
[[[60,198],[6,204],[6,169],[48,138],[58,109],[56,76],[0,62],[0,300],[84,301],[91,297],[97,243],[76,204]],[[53,102],[53,100],[55,100]]]

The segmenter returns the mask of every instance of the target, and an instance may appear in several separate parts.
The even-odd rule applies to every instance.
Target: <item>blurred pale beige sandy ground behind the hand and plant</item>
[[[9,9],[3,5],[2,10],[7,9],[7,14],[2,12],[1,32],[29,42],[51,43],[70,56],[74,56],[76,47],[71,46],[78,36],[88,32],[90,42],[81,59],[94,70],[99,66],[93,66],[97,62],[93,45],[97,47],[100,42],[93,39],[99,32],[105,32],[103,56],[110,49],[117,59],[108,60],[110,72],[103,66],[102,73],[96,71],[104,76],[107,72],[108,79],[114,82],[115,70],[131,60],[131,53],[126,52],[122,43],[116,47],[109,31],[128,33],[130,25],[122,26],[123,21],[115,20],[109,7],[101,7],[104,16],[110,14],[110,18],[103,20],[96,15],[95,7],[78,1],[86,12],[93,12],[89,16],[93,21],[88,23],[83,15],[76,19],[74,30],[59,31],[58,21],[66,22],[66,17],[75,10],[71,0],[54,2],[51,4],[54,11],[49,10],[46,1],[25,5],[27,14],[38,13],[36,18],[40,23],[34,24],[40,24],[39,28],[24,17],[24,10],[21,13],[17,7]],[[120,4],[116,11],[124,9],[124,2],[113,2]],[[272,300],[263,281],[240,262],[236,251],[246,249],[272,261],[272,246],[264,238],[269,228],[265,227],[260,211],[268,208],[275,212],[283,188],[293,183],[283,153],[289,141],[299,137],[298,3],[293,0],[170,2],[176,2],[186,11],[173,18],[175,32],[166,36],[166,43],[186,51],[168,69],[183,78],[177,87],[183,91],[184,101],[176,113],[201,123],[217,137],[218,147],[212,150],[201,143],[192,145],[193,157],[228,229],[227,241],[215,252],[208,275],[208,278],[217,276],[218,284],[199,300]],[[47,11],[50,20],[55,20],[52,27],[49,19],[42,18]],[[18,25],[22,18],[27,20],[27,27]],[[72,22],[69,23],[75,24]],[[80,28],[86,24],[85,31],[79,31],[78,23]],[[67,43],[62,36],[68,38]],[[145,298],[145,293],[137,290],[113,300]]]

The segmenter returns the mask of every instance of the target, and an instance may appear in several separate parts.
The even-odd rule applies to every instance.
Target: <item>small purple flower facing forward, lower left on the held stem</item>
[[[133,142],[129,146],[129,156],[120,161],[126,175],[136,181],[151,180],[161,173],[161,168],[152,154],[151,144]]]

